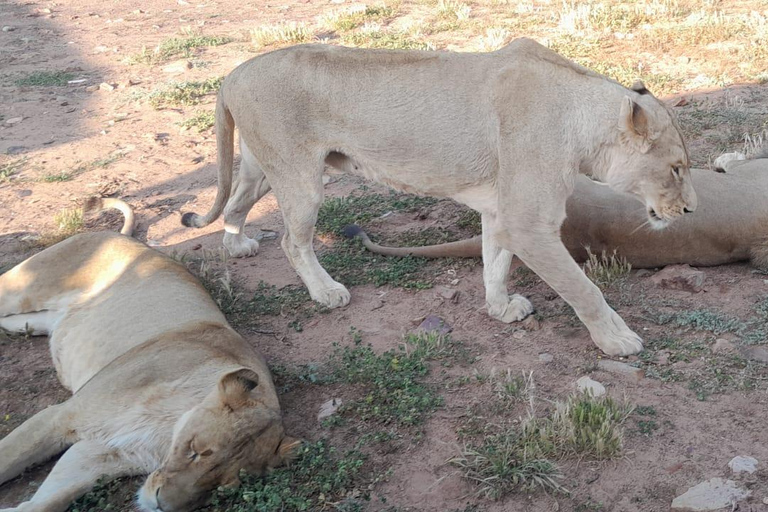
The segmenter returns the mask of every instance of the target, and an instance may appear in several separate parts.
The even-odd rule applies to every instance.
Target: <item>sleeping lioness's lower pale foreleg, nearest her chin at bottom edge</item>
[[[143,472],[131,467],[113,448],[94,441],[78,441],[61,456],[32,499],[10,510],[62,512],[102,477],[113,480]]]

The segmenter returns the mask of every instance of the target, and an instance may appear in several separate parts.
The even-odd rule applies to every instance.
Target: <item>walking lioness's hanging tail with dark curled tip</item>
[[[216,151],[219,155],[219,188],[211,210],[204,216],[192,212],[181,217],[189,228],[202,228],[219,218],[232,191],[232,164],[235,157],[235,120],[224,103],[223,85],[216,101]]]

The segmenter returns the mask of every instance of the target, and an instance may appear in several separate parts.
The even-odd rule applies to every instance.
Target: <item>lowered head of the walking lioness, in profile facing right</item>
[[[661,229],[696,209],[688,151],[672,113],[641,82],[632,90],[638,95],[622,100],[605,182],[639,198],[650,225]]]

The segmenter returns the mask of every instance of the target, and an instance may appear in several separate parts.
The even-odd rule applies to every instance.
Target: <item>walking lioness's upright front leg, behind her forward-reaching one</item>
[[[522,295],[507,293],[507,274],[512,263],[512,253],[499,246],[491,236],[496,215],[484,213],[482,222],[483,282],[488,315],[505,323],[517,322],[533,313],[533,306]]]

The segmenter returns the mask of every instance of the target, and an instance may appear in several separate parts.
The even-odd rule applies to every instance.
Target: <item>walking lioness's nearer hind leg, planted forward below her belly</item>
[[[317,212],[323,202],[322,162],[317,163],[315,170],[310,175],[296,176],[291,170],[281,169],[280,179],[270,182],[285,222],[281,245],[288,261],[313,300],[337,308],[349,304],[349,291],[328,275],[312,247]]]

